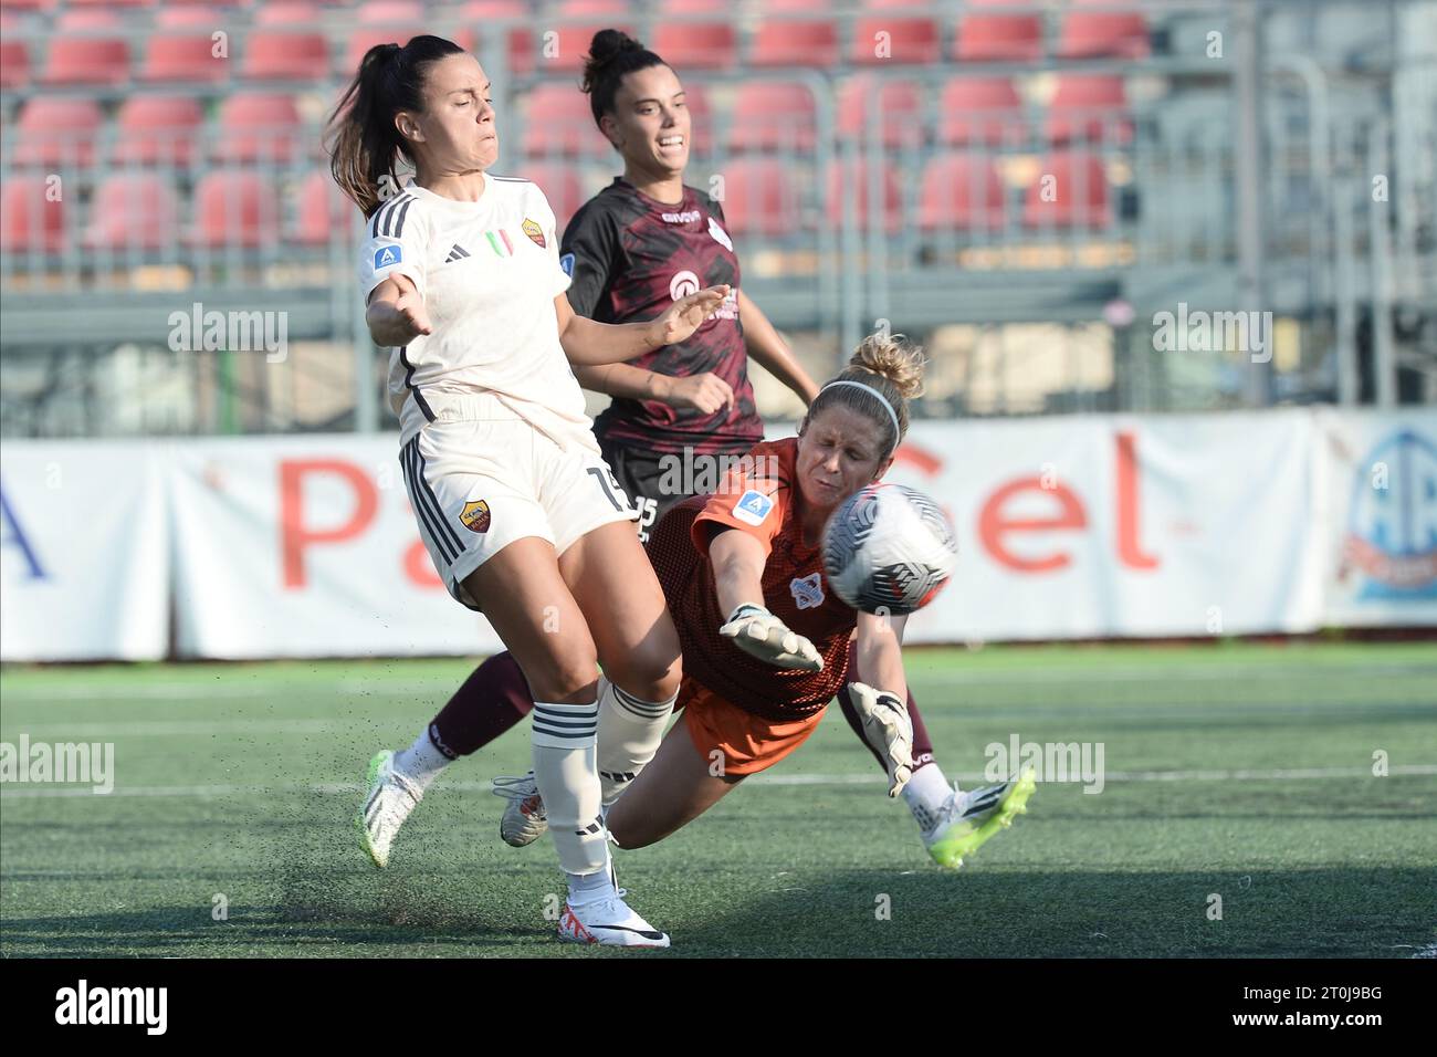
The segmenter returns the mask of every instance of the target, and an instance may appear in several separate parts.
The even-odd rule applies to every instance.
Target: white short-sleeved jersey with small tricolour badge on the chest
[[[555,226],[537,186],[489,173],[479,201],[410,184],[369,217],[361,293],[368,302],[381,282],[405,275],[434,328],[389,357],[401,443],[434,421],[447,398],[489,391],[537,429],[570,440],[583,434],[598,450],[559,344],[553,299],[569,289],[569,276]]]

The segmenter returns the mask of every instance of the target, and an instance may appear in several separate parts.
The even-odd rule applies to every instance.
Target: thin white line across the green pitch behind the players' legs
[[[1407,764],[1391,768],[1391,775],[1437,775],[1437,764]],[[1325,778],[1372,778],[1368,767],[1313,767],[1288,768],[1280,771],[1108,771],[1104,781],[1108,782],[1227,782],[1227,781],[1312,781]],[[958,778],[973,785],[986,781],[979,774],[963,774]],[[749,779],[756,785],[878,785],[887,781],[878,774],[776,774],[754,775]],[[1063,782],[1078,785],[1081,782]],[[16,788],[17,784],[6,782],[0,798],[4,800],[36,800],[46,797],[98,797],[88,785],[47,785],[37,790]],[[489,792],[493,784],[484,781],[453,781],[435,788],[453,792]],[[273,795],[276,792],[309,792],[309,794],[352,794],[359,795],[364,787],[358,782],[276,782],[274,785],[116,785],[114,797],[250,797]]]

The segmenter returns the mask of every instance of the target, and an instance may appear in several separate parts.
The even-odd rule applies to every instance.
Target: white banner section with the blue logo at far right
[[[1323,623],[1437,624],[1437,411],[1318,414]]]

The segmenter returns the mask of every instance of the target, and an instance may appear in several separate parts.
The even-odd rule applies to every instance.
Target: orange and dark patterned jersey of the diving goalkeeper
[[[844,685],[848,639],[858,614],[828,588],[822,541],[803,541],[798,440],[764,441],[724,475],[718,490],[674,506],[654,528],[650,559],[684,649],[684,673],[767,719],[818,712]],[[747,532],[767,554],[763,604],[823,657],[822,672],[764,664],[718,634],[708,542],[714,526]]]

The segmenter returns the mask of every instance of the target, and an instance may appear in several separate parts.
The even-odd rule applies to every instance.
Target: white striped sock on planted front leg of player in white
[[[599,775],[595,736],[599,703],[535,702],[535,784],[549,815],[549,833],[565,873],[586,876],[609,861],[608,837],[599,820]]]

